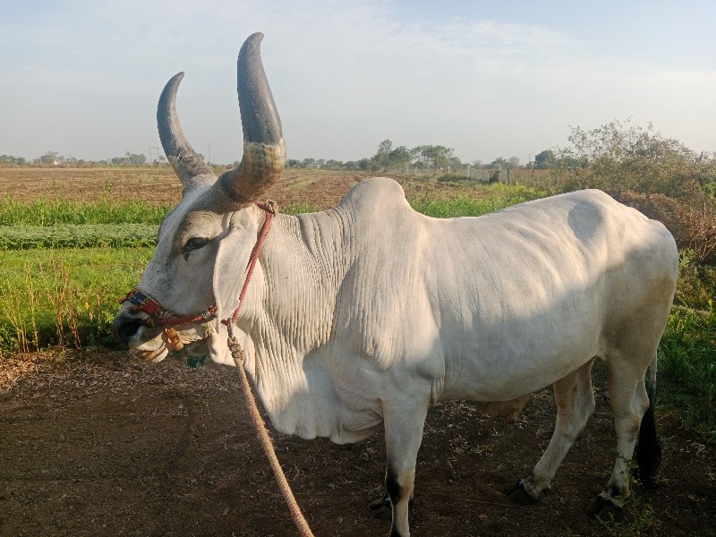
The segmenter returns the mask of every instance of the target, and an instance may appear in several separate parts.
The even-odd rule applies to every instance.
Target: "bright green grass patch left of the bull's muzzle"
[[[115,345],[117,300],[153,248],[0,252],[0,353],[48,345]]]

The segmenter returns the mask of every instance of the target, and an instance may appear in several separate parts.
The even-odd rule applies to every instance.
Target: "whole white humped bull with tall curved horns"
[[[260,38],[247,39],[239,55],[237,170],[215,177],[184,139],[174,104],[181,76],[160,99],[160,137],[183,200],[161,226],[141,277],[146,296],[133,296],[115,319],[117,334],[147,359],[167,353],[166,332],[154,321],[175,315],[185,343],[202,339],[215,361],[233,364],[217,319],[236,307],[265,218],[252,201],[285,165]],[[515,413],[525,395],[553,384],[550,445],[510,494],[531,501],[550,486],[592,413],[591,369],[600,357],[618,455],[589,507],[596,513],[628,495],[627,461],[639,435],[637,462],[642,480],[651,480],[647,447],[657,439],[644,376],[651,365],[653,388],[677,269],[664,226],[603,192],[435,219],[414,212],[397,183],[377,178],[334,209],[274,219],[235,326],[247,348],[244,368],[277,430],[341,443],[385,431],[391,534],[403,536],[430,405],[507,402],[488,407]],[[191,319],[198,311],[212,317],[214,305],[217,319]]]

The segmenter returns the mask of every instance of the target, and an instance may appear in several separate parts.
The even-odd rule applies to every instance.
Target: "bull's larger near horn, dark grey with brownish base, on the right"
[[[261,63],[262,33],[243,43],[237,62],[239,108],[243,125],[243,158],[218,183],[235,203],[260,199],[286,167],[286,144],[276,103]]]

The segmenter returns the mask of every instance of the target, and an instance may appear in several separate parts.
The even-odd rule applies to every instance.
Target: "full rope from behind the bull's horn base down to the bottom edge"
[[[228,345],[229,351],[231,352],[231,357],[234,358],[234,364],[236,365],[236,369],[239,371],[239,376],[241,377],[243,398],[246,402],[246,408],[249,411],[249,415],[251,416],[251,423],[253,423],[253,427],[256,430],[256,436],[259,438],[261,449],[263,450],[263,453],[266,458],[268,458],[268,465],[271,466],[271,471],[274,473],[274,477],[276,478],[278,484],[278,489],[281,490],[281,495],[286,500],[286,505],[288,506],[288,510],[291,513],[291,518],[294,519],[294,524],[298,529],[298,533],[300,533],[303,537],[313,537],[313,533],[311,533],[311,528],[309,527],[308,522],[306,522],[306,519],[301,512],[301,507],[298,506],[298,502],[294,497],[294,492],[291,490],[291,486],[288,484],[288,480],[286,480],[286,474],[284,473],[283,469],[281,468],[281,465],[278,462],[278,457],[276,456],[276,449],[274,448],[273,442],[271,441],[271,437],[268,435],[266,423],[263,421],[263,418],[261,418],[259,407],[258,405],[256,405],[256,398],[253,396],[253,391],[251,390],[251,384],[249,382],[248,377],[246,376],[246,371],[244,371],[243,369],[243,362],[246,358],[246,353],[244,353],[243,348],[239,343],[239,340],[234,336],[234,321],[239,316],[239,311],[241,310],[241,306],[243,304],[243,298],[246,295],[246,289],[248,289],[249,282],[251,281],[253,268],[256,265],[256,261],[259,259],[259,254],[261,248],[263,247],[264,239],[266,238],[266,234],[268,234],[268,229],[271,226],[271,218],[274,217],[277,213],[277,205],[273,201],[268,201],[265,204],[257,205],[259,205],[259,207],[263,209],[266,213],[266,220],[264,221],[264,225],[261,228],[259,239],[256,241],[256,245],[253,247],[253,251],[251,251],[248,273],[246,274],[246,279],[244,279],[243,281],[243,288],[241,290],[241,294],[239,294],[239,305],[236,306],[236,310],[230,318],[222,320],[221,322],[226,324],[226,327],[228,328],[228,339],[226,344]]]

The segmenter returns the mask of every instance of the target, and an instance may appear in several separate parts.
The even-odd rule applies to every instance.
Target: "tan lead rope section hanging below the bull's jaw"
[[[232,330],[230,329],[229,331]],[[239,370],[239,373],[241,375],[243,396],[246,400],[246,407],[249,409],[249,414],[251,415],[251,422],[256,429],[256,436],[259,437],[261,448],[263,449],[264,454],[268,458],[268,464],[271,466],[271,470],[274,473],[274,477],[276,477],[278,488],[281,490],[281,494],[286,500],[288,510],[291,512],[291,518],[294,519],[294,524],[296,524],[298,533],[303,535],[303,537],[313,537],[313,533],[311,533],[311,528],[309,527],[308,522],[306,522],[306,519],[301,512],[301,507],[298,506],[298,502],[296,502],[296,499],[294,498],[294,492],[291,490],[291,486],[286,480],[286,474],[281,468],[281,465],[278,463],[276,450],[274,449],[273,443],[271,442],[271,437],[268,436],[266,424],[264,423],[263,418],[261,418],[261,414],[259,413],[259,407],[256,405],[256,400],[253,397],[253,392],[251,391],[249,379],[246,377],[246,371],[243,371],[243,360],[245,357],[243,348],[234,336],[229,337],[228,345],[229,350],[231,351],[231,356],[234,358],[236,369]]]

